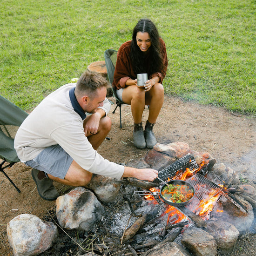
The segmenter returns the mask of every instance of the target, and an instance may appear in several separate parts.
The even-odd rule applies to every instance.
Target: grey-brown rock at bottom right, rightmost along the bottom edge
[[[233,224],[223,220],[210,220],[207,222],[206,229],[215,238],[217,248],[223,253],[229,253],[233,250],[239,236],[239,231]]]

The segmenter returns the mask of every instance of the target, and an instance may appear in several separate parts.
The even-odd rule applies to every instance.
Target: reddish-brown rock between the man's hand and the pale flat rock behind
[[[155,149],[148,151],[148,153],[144,157],[144,161],[148,163],[150,168],[155,170],[161,170],[166,166],[172,164],[176,161],[174,157],[170,157],[168,155],[162,154]]]

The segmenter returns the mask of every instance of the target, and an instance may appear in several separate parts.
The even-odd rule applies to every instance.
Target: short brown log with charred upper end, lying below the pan
[[[152,218],[155,218],[156,216],[160,216],[164,213],[166,210],[164,205],[158,205],[156,206],[152,211],[146,213],[145,215],[139,217],[128,229],[124,231],[124,235],[122,238],[123,242],[128,241],[131,239],[135,234],[138,232],[138,230],[147,222],[149,222]]]

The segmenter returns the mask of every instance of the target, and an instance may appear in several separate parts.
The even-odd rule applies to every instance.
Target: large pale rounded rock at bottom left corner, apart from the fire
[[[52,222],[21,214],[7,223],[7,236],[14,256],[39,255],[53,245],[58,229]]]

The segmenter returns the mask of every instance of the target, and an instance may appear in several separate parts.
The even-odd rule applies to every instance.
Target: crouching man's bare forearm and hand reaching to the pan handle
[[[124,167],[122,177],[133,177],[142,181],[153,182],[158,176],[158,171],[150,168],[136,169],[132,167]]]

